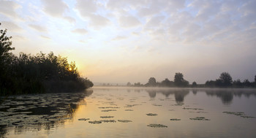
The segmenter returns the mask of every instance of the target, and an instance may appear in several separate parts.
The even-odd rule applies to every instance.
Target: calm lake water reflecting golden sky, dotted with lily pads
[[[256,137],[255,89],[94,87],[1,102],[0,137]]]

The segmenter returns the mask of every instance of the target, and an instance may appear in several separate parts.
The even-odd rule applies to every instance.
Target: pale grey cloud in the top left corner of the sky
[[[20,7],[15,1],[0,1],[0,13],[12,18],[16,18],[18,15],[15,12]]]

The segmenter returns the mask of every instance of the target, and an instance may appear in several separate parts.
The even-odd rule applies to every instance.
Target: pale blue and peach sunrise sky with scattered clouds
[[[75,61],[94,83],[256,74],[255,0],[0,0],[12,53]]]

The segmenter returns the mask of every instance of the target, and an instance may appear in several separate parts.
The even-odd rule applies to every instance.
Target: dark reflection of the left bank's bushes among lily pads
[[[83,99],[92,90],[81,93],[46,93],[36,95],[11,96],[0,105],[0,137],[8,133],[8,128],[23,133],[36,128],[50,130],[70,120]]]

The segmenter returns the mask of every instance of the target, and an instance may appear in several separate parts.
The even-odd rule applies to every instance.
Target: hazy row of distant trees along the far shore
[[[154,77],[150,77],[148,79],[148,83],[145,85],[141,83],[127,83],[127,86],[135,86],[135,87],[206,87],[206,88],[256,88],[256,75],[254,82],[249,82],[248,79],[241,82],[241,80],[234,80],[230,76],[228,72],[222,72],[217,80],[207,80],[205,84],[198,85],[195,81],[192,84],[189,84],[189,81],[184,80],[184,75],[180,72],[174,75],[174,80],[162,80],[161,82],[157,82]]]

